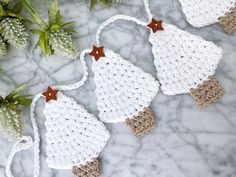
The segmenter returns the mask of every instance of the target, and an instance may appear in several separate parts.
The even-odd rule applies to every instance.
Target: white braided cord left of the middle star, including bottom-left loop
[[[81,55],[80,55],[80,61],[81,61],[83,68],[84,68],[83,78],[75,84],[53,86],[54,89],[72,90],[72,89],[76,89],[76,88],[81,87],[86,82],[86,80],[88,78],[88,69],[87,69],[84,57],[89,52],[90,52],[90,50],[86,49],[86,50],[82,51]],[[30,109],[30,117],[31,117],[31,122],[32,122],[32,126],[33,126],[33,132],[34,132],[34,143],[33,143],[33,147],[34,147],[34,175],[33,175],[33,177],[39,177],[39,175],[40,175],[40,159],[39,159],[40,135],[39,135],[39,130],[38,130],[38,126],[37,126],[37,121],[35,118],[35,107],[36,107],[36,103],[40,97],[42,97],[42,93],[39,93],[34,97],[32,103],[31,103],[31,109]],[[10,166],[11,166],[14,154],[16,152],[19,152],[20,150],[27,149],[27,147],[29,147],[29,144],[32,144],[31,143],[32,140],[30,140],[29,137],[27,137],[27,138],[23,137],[22,140],[25,140],[26,142],[29,142],[29,143],[24,144],[24,143],[21,143],[21,141],[18,141],[13,146],[12,152],[8,158],[8,163],[6,166],[6,174],[8,175],[7,177],[13,177],[11,170],[10,170]],[[19,148],[19,146],[21,148]]]

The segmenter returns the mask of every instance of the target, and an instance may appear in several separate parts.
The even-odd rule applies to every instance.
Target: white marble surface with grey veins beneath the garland
[[[46,18],[49,2],[34,0]],[[64,0],[61,11],[65,20],[74,20],[78,29],[75,35],[80,50],[90,48],[95,42],[99,24],[115,14],[127,14],[147,20],[141,0],[128,0],[112,8],[97,6],[92,13],[88,2]],[[236,176],[236,33],[228,35],[219,25],[196,29],[191,27],[177,0],[151,0],[157,18],[193,34],[214,41],[224,49],[224,58],[216,76],[225,88],[225,96],[209,108],[198,108],[189,95],[166,96],[159,92],[152,102],[157,115],[158,128],[144,138],[135,138],[125,124],[108,124],[112,136],[100,156],[103,177],[235,177]],[[103,34],[103,44],[136,65],[150,72],[153,65],[148,31],[134,24],[118,22]],[[73,83],[83,74],[77,60],[51,57],[44,59],[39,50],[33,51],[36,38],[23,51],[11,49],[0,61],[5,73],[0,76],[0,93],[6,95],[22,83],[29,83],[28,92],[36,94],[48,85]],[[91,58],[87,58],[89,66]],[[93,74],[81,89],[66,92],[83,104],[89,112],[98,115],[94,94]],[[52,170],[45,157],[45,118],[43,100],[37,106],[37,121],[41,133],[41,176],[72,176],[71,171]],[[32,135],[29,110],[25,111],[25,134]],[[0,177],[12,144],[0,138]],[[30,177],[33,170],[33,150],[17,154],[12,166],[17,177]]]

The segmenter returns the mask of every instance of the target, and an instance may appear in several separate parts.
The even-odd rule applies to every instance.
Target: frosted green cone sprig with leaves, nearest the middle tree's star
[[[39,26],[39,29],[31,30],[34,34],[39,35],[39,40],[35,48],[40,47],[44,56],[59,54],[68,58],[75,58],[76,49],[71,38],[71,33],[76,31],[67,28],[73,22],[62,22],[62,15],[58,9],[58,1],[54,0],[48,10],[48,24],[40,17],[29,0],[24,0],[24,4],[30,12],[34,23]]]

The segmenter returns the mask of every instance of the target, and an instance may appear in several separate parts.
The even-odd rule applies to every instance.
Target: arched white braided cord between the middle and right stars
[[[101,33],[104,30],[104,28],[106,28],[108,25],[110,25],[111,23],[113,23],[117,20],[132,21],[132,22],[137,23],[138,25],[145,26],[145,27],[147,26],[146,22],[143,22],[143,21],[141,21],[141,20],[139,20],[135,17],[131,17],[131,16],[127,16],[127,15],[113,16],[113,17],[109,18],[108,20],[106,20],[104,23],[102,23],[101,26],[98,28],[97,34],[96,34],[96,43],[97,43],[98,46],[101,45],[100,36],[101,36]]]

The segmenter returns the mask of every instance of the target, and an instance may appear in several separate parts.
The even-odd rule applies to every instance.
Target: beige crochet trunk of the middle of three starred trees
[[[144,108],[137,116],[126,119],[127,125],[135,136],[144,136],[155,127],[154,114],[150,108]]]

